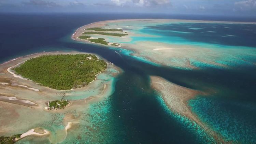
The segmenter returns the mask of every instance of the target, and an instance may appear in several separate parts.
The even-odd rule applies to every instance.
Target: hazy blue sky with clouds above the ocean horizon
[[[0,12],[123,12],[255,16],[256,0],[0,0]]]

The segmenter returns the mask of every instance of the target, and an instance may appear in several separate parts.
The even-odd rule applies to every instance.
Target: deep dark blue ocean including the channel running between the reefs
[[[0,14],[0,62],[43,51],[76,50],[98,54],[122,68],[124,73],[118,76],[115,92],[109,100],[111,112],[108,114],[108,124],[111,127],[108,130],[109,136],[105,138],[108,141],[101,141],[102,143],[207,143],[202,135],[195,133],[192,128],[181,123],[166,110],[166,106],[159,101],[156,92],[150,87],[149,75],[161,76],[175,84],[197,90],[217,89],[212,96],[197,96],[190,100],[192,111],[226,141],[256,143],[255,64],[233,69],[209,67],[182,70],[158,67],[130,56],[121,54],[120,57],[115,50],[104,46],[80,43],[71,39],[72,33],[83,25],[102,20],[129,18],[256,21],[256,18],[246,17],[149,14]],[[173,30],[175,27],[178,28],[179,25],[172,24]],[[200,27],[208,25],[201,24]],[[256,26],[252,26],[251,29],[256,30]],[[218,31],[223,32],[222,29]],[[174,36],[182,37],[179,33]],[[215,41],[210,41],[210,37],[202,35],[187,35],[186,39],[256,48],[254,35],[244,35],[235,40],[217,38],[214,34],[212,36]],[[252,58],[252,61],[256,63],[255,58]],[[114,119],[116,116],[121,118]],[[67,141],[72,142],[69,137]]]

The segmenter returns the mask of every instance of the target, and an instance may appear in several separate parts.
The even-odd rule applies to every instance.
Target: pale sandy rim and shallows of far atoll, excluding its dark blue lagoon
[[[126,23],[127,21],[127,23]],[[137,22],[138,21],[138,22]],[[119,23],[121,22],[121,23]],[[160,25],[168,23],[214,23],[214,24],[256,24],[256,22],[236,22],[236,21],[209,21],[209,20],[179,20],[179,19],[117,19],[117,20],[105,20],[90,23],[78,28],[72,35],[72,39],[88,43],[97,44],[101,46],[107,46],[108,48],[120,48],[134,53],[127,54],[128,56],[135,56],[145,59],[148,62],[156,63],[162,66],[173,67],[177,69],[199,69],[200,66],[211,67],[211,68],[232,68],[231,63],[241,63],[243,59],[237,57],[236,53],[242,55],[248,54],[243,48],[233,48],[227,46],[224,48],[222,45],[208,44],[208,43],[166,43],[162,41],[151,41],[142,39],[139,41],[132,41],[132,37],[151,37],[147,33],[143,34],[140,32],[134,32],[144,28],[144,25]],[[116,25],[115,25],[116,24]],[[131,24],[132,26],[127,28]],[[126,36],[122,38],[114,36],[98,36],[96,38],[104,38],[106,42],[113,42],[120,44],[121,46],[104,45],[100,43],[91,42],[86,39],[80,39],[87,28],[122,28],[127,32]],[[91,36],[91,35],[90,35]],[[129,43],[132,41],[132,43]],[[214,48],[213,48],[214,47]],[[216,48],[215,48],[216,47]],[[245,46],[244,46],[245,47]],[[251,47],[245,47],[247,51],[252,51]],[[232,49],[232,51],[230,51]],[[241,51],[241,52],[238,52]],[[198,56],[200,54],[200,56]],[[223,56],[234,55],[236,59],[232,59],[233,62],[225,63]],[[231,56],[230,56],[231,57]],[[233,57],[231,57],[233,58]],[[215,61],[213,61],[214,59]],[[239,62],[238,62],[239,61]]]

